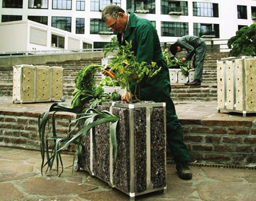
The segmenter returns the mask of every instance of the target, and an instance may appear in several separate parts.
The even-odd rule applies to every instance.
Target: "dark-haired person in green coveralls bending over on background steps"
[[[191,60],[192,56],[195,54],[193,60],[193,67],[195,68],[194,80],[185,85],[201,85],[206,43],[197,36],[183,36],[170,46],[170,51],[173,55],[176,55],[176,53],[182,51],[182,49],[186,49],[188,52],[185,57],[181,58],[183,62]]]

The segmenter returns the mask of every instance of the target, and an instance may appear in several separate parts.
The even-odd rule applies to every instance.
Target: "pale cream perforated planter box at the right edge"
[[[217,60],[218,112],[256,112],[256,57]]]

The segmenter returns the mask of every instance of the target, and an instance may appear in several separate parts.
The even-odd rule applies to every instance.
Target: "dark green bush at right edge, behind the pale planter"
[[[227,46],[231,49],[230,57],[256,55],[256,24],[244,26],[231,37]]]

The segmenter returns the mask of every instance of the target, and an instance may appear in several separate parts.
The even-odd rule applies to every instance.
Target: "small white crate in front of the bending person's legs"
[[[194,78],[194,69],[189,70],[189,75],[185,76],[180,69],[169,69],[170,83],[171,84],[184,84]]]

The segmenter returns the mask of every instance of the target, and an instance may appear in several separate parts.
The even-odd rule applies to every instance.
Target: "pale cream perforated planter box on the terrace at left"
[[[60,66],[13,66],[13,103],[62,100],[63,68]]]

